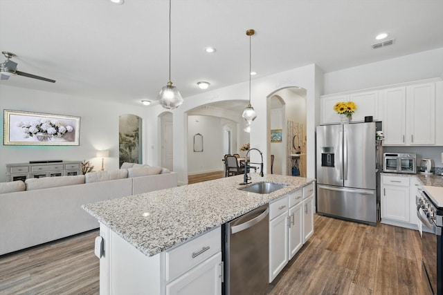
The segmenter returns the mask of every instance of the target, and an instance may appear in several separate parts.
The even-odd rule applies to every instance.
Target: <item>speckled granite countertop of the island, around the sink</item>
[[[252,182],[263,181],[289,185],[269,194],[249,193],[238,190],[244,186],[239,185],[243,175],[237,175],[82,208],[143,254],[154,256],[315,180],[252,174]]]

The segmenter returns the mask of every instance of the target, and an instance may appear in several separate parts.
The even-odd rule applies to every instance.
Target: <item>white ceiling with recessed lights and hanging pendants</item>
[[[138,104],[168,82],[168,1],[0,0],[0,84]],[[307,64],[325,73],[443,47],[442,0],[172,0],[172,82],[183,97]],[[372,50],[379,32],[395,45]],[[217,52],[209,55],[206,46]],[[0,57],[0,62],[3,61]]]

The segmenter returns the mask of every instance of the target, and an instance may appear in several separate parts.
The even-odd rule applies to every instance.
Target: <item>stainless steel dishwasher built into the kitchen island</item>
[[[269,209],[263,205],[224,225],[226,295],[263,295],[269,277]]]

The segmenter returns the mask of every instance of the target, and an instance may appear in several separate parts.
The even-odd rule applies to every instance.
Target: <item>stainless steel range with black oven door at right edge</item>
[[[417,216],[423,227],[422,280],[431,294],[443,295],[443,208],[437,207],[426,191],[418,190]],[[423,230],[422,230],[423,229]]]

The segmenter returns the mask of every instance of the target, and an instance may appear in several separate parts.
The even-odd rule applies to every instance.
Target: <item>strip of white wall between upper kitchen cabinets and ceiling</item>
[[[443,77],[443,48],[325,73],[323,94],[435,77]]]

